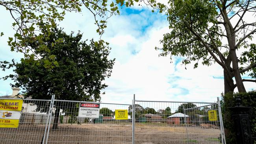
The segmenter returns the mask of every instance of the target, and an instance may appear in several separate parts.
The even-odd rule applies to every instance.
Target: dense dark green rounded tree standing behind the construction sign
[[[45,27],[42,26],[42,31],[48,33],[43,28]],[[43,37],[43,34],[40,35]],[[12,86],[22,87],[26,96],[31,96],[32,99],[49,100],[51,94],[55,94],[55,99],[58,100],[99,101],[100,90],[107,87],[102,81],[110,76],[114,64],[114,59],[108,59],[110,48],[101,41],[91,40],[87,44],[87,41],[81,41],[80,33],[73,35],[52,28],[50,36],[42,39],[47,44],[48,52],[41,50],[35,41],[27,42],[41,58],[36,61],[22,60],[20,63],[5,61],[0,67],[5,70],[15,66],[16,74],[4,79],[13,79],[15,84]],[[58,61],[51,69],[45,66],[51,65],[48,63],[50,58]],[[38,65],[37,61],[45,64]],[[58,124],[59,110],[64,108],[61,103],[55,103],[55,107],[54,123]],[[72,107],[78,110],[79,105]],[[54,128],[57,126],[54,125]]]

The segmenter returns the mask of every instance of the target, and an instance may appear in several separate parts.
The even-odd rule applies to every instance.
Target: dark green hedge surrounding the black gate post
[[[242,105],[252,107],[250,111],[250,127],[252,137],[256,137],[256,91],[253,90],[245,93],[222,94],[221,109],[227,144],[236,144],[234,121],[232,120],[231,111],[228,109],[228,107],[236,106],[237,96],[241,98]],[[256,139],[254,139],[254,144],[256,144]]]

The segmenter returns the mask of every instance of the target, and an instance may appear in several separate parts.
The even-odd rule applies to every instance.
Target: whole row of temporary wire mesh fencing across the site
[[[224,143],[219,103],[140,100],[130,105],[98,103],[98,118],[79,117],[80,104],[80,101],[54,100],[54,97],[52,100],[24,99],[19,127],[0,128],[0,143]],[[116,120],[118,109],[127,110],[129,119]],[[217,119],[210,120],[208,111],[216,113]]]

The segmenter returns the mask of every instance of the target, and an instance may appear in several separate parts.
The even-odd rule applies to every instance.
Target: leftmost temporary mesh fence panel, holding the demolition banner
[[[6,99],[6,98],[0,98]],[[9,99],[20,100],[20,99]],[[19,127],[0,128],[1,144],[40,144],[45,135],[50,100],[27,100],[22,103]]]

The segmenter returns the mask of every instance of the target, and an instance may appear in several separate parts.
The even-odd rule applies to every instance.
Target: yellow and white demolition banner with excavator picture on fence
[[[0,100],[0,127],[18,127],[23,100]]]

